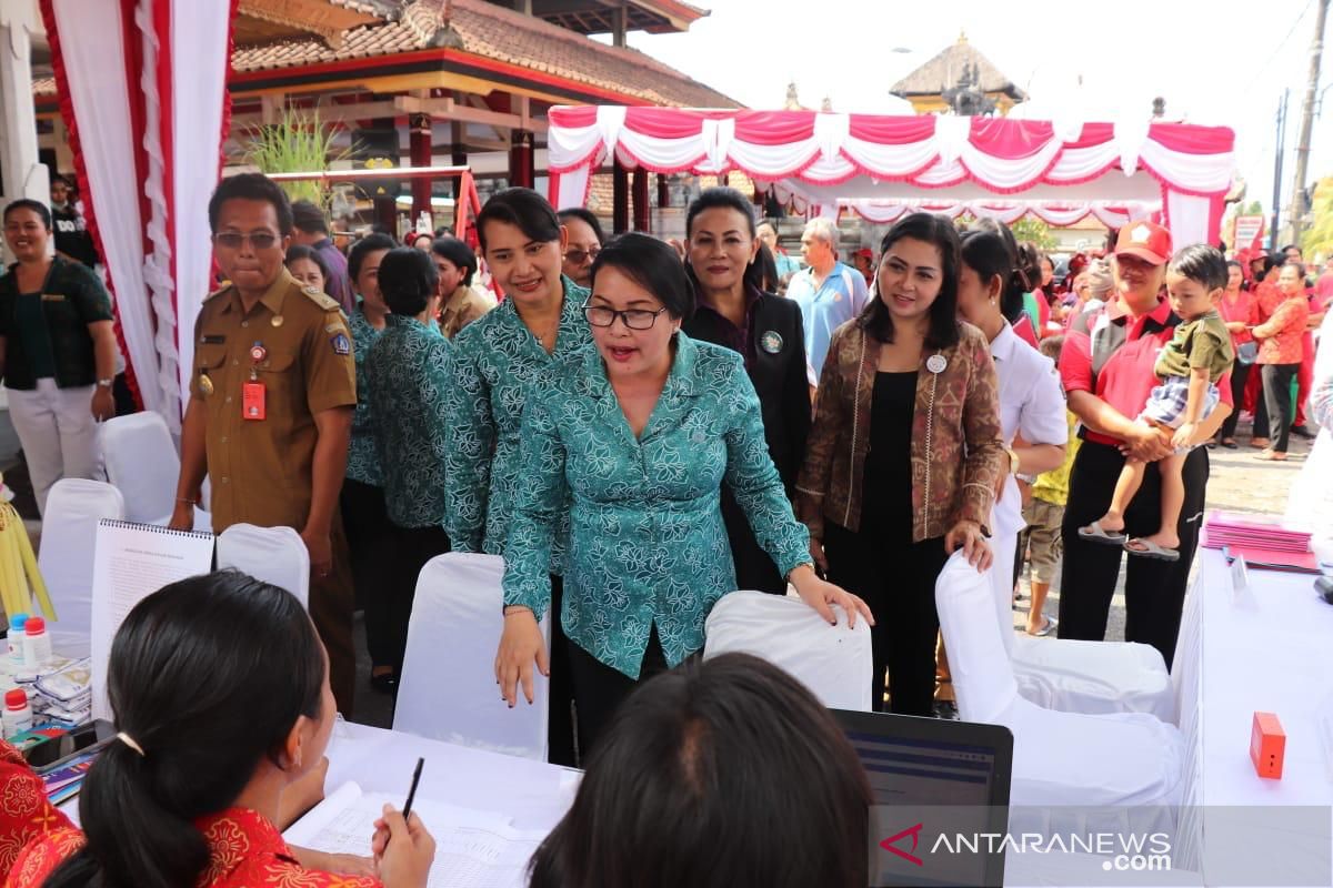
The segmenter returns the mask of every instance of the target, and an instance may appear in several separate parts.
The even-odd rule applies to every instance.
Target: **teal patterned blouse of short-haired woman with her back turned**
[[[435,324],[391,314],[365,358],[365,375],[389,521],[443,527],[449,341]]]

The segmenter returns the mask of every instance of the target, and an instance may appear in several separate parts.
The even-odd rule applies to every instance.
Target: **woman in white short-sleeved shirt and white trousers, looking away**
[[[1000,434],[1008,459],[997,491],[990,545],[996,553],[992,571],[996,611],[1006,630],[1012,620],[1018,531],[1025,523],[1017,482],[1030,483],[1034,475],[1060,466],[1069,439],[1065,395],[1054,363],[1020,339],[1000,312],[1000,297],[1014,276],[1014,254],[1004,237],[986,230],[962,236],[958,317],[981,330],[990,342],[990,357],[1000,378]],[[1049,631],[1050,627],[1042,624],[1034,634]]]

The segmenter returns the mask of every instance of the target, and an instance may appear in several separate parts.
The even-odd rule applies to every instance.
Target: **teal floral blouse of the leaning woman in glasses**
[[[784,576],[810,560],[741,355],[684,333],[677,342],[637,439],[593,346],[531,390],[523,418],[525,471],[505,547],[504,602],[545,614],[547,564],[572,494],[561,624],[632,679],[653,624],[676,666],[704,646],[708,611],[736,588],[724,482]]]

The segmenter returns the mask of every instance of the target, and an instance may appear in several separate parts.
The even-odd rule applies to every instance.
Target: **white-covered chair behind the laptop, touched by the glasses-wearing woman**
[[[797,598],[741,591],[724,595],[704,623],[704,659],[740,651],[786,670],[820,703],[833,710],[869,712],[873,704],[870,626],[834,607],[829,626]]]

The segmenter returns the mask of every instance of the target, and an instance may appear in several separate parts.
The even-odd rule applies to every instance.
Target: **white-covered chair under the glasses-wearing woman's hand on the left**
[[[447,553],[421,568],[393,730],[545,762],[548,680],[533,670],[533,703],[520,688],[512,710],[496,687],[503,578],[499,555]],[[548,648],[551,619],[540,624]]]

